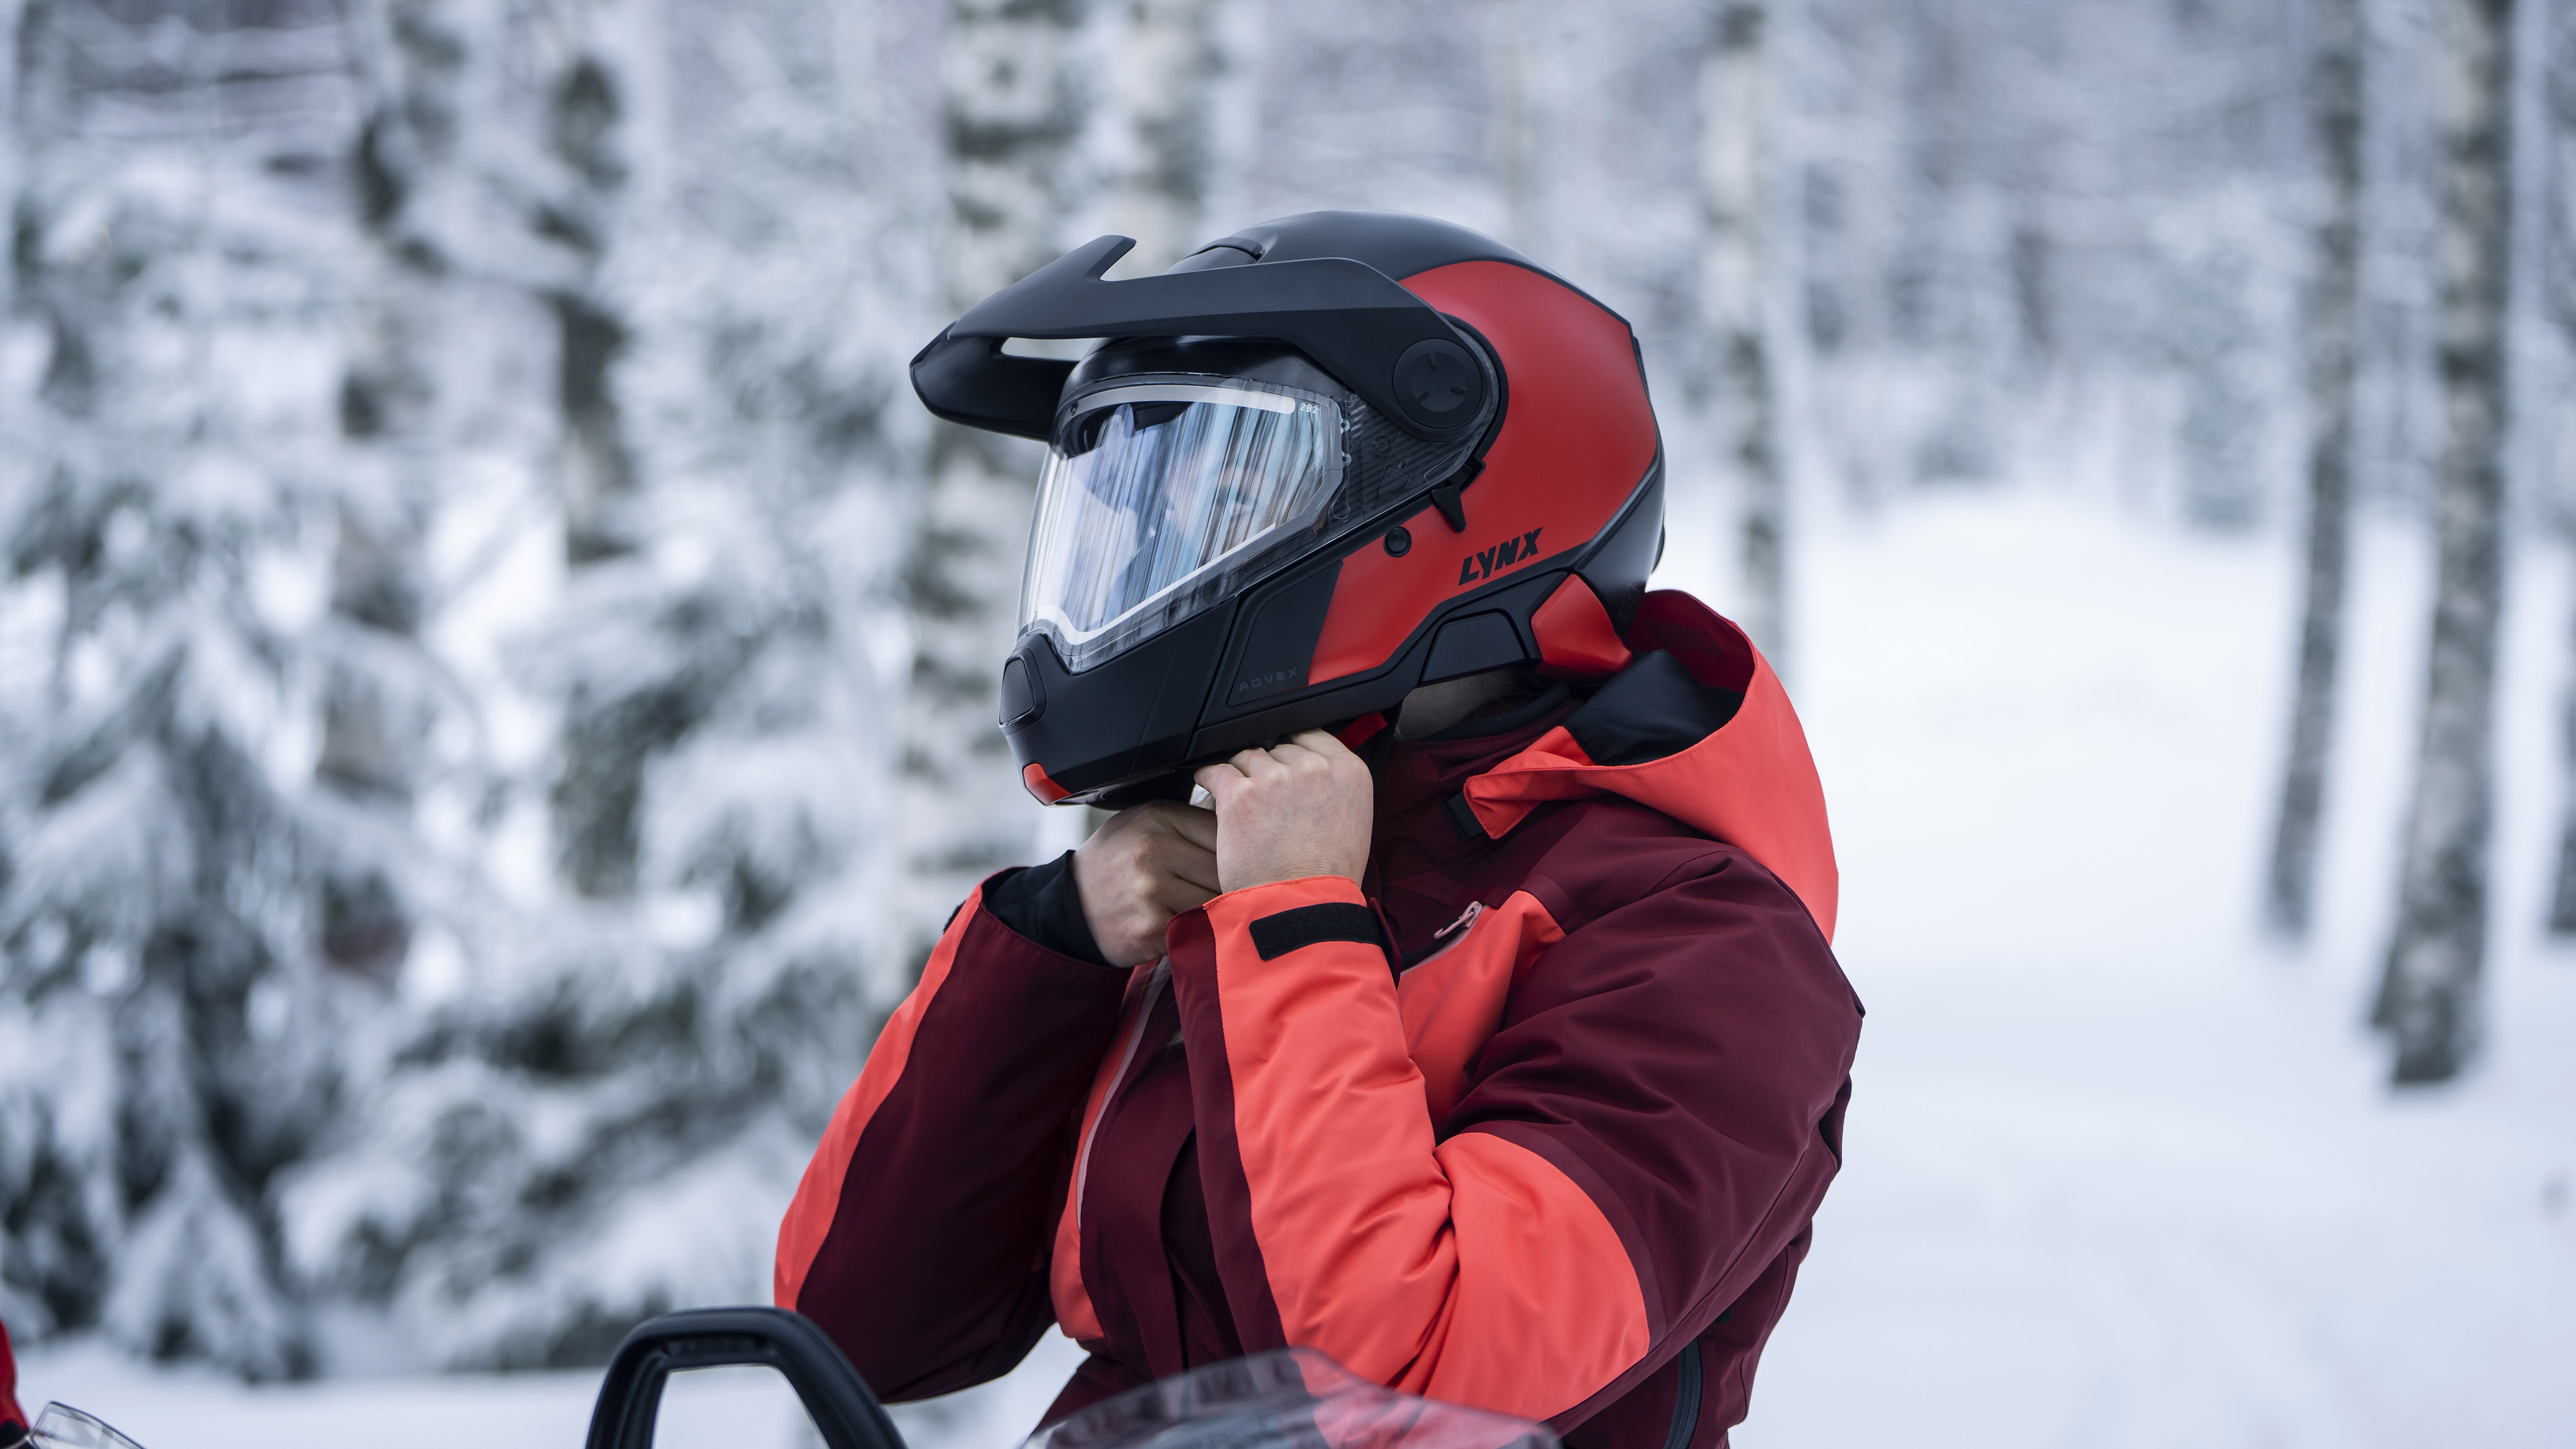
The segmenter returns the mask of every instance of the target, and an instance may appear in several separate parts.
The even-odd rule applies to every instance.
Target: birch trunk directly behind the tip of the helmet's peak
[[[1079,0],[951,5],[940,64],[953,312],[1056,258],[1084,126],[1082,21]],[[966,890],[1025,861],[1036,838],[1036,804],[994,717],[1036,480],[1025,441],[940,425],[930,443],[904,559],[912,670],[894,815],[907,869],[896,910],[914,959]]]

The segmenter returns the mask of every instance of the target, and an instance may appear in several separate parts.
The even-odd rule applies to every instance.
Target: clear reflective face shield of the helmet
[[[1136,382],[1056,418],[1020,632],[1084,670],[1229,598],[1324,523],[1342,485],[1332,397],[1242,379]]]

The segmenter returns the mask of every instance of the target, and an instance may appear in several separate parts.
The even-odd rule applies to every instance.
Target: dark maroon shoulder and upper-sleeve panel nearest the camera
[[[1677,1374],[1659,1369],[1698,1343],[1698,1441],[1713,1444],[1744,1418],[1842,1165],[1860,1003],[1801,902],[1739,851],[1664,835],[1672,822],[1623,802],[1564,810],[1579,817],[1533,820],[1561,838],[1522,890],[1566,938],[1512,993],[1440,1132],[1540,1152],[1605,1204],[1641,1266],[1654,1351],[1558,1428],[1654,1377],[1643,1397],[1667,1421],[1651,1436],[1574,1439],[1662,1444]]]

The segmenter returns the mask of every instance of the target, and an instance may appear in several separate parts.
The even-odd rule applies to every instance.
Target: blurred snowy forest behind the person
[[[2439,552],[2429,784],[2354,828],[2409,838],[2396,1075],[2476,1062],[2499,559],[2576,472],[2571,0],[0,0],[0,36],[21,1343],[562,1366],[765,1299],[930,933],[1082,830],[992,722],[1036,456],[935,428],[907,358],[1092,235],[1123,276],[1321,206],[1486,229],[1636,325],[1667,570],[1793,686],[1829,521],[2053,490],[2298,559],[2236,621],[2300,688],[2241,807],[2290,941],[2347,518]]]

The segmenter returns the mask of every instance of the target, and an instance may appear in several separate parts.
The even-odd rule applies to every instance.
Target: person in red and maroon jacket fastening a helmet
[[[1090,1359],[1048,1421],[1314,1346],[1584,1449],[1723,1444],[1860,1000],[1780,681],[1646,590],[1633,333],[1422,217],[1105,281],[1128,245],[912,364],[940,418],[1048,443],[1002,730],[1038,799],[1118,815],[948,920],[778,1302],[891,1400],[1054,1323]]]

